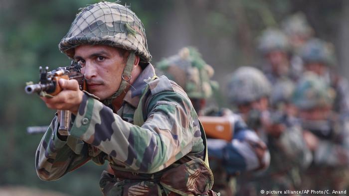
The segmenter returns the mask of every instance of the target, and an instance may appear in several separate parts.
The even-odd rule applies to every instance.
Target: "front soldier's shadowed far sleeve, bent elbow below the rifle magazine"
[[[90,159],[87,145],[68,136],[67,141],[71,144],[69,147],[67,141],[57,137],[57,130],[56,114],[36,150],[35,168],[41,180],[57,180]]]

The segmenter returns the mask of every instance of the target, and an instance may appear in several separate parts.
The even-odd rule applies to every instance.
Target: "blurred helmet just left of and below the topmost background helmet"
[[[290,44],[286,35],[276,28],[268,28],[262,32],[258,40],[258,49],[263,53],[279,50],[288,52]]]

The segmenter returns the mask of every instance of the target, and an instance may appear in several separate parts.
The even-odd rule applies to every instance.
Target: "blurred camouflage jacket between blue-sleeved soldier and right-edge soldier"
[[[301,186],[301,171],[309,166],[312,155],[297,124],[286,126],[280,137],[268,135],[269,168],[256,176],[262,189],[286,190]]]

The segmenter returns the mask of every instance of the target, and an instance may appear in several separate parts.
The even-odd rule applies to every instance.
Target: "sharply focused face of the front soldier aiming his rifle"
[[[101,98],[112,96],[120,87],[128,52],[104,45],[81,45],[74,59],[81,63],[88,92]]]

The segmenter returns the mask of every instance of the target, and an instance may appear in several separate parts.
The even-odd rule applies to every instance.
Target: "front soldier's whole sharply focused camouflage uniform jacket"
[[[127,92],[117,113],[85,93],[66,141],[57,136],[55,116],[36,152],[39,178],[56,180],[89,160],[97,164],[108,160],[116,176],[102,173],[100,186],[105,195],[139,189],[141,195],[169,195],[172,191],[198,195],[210,189],[213,178],[208,166],[202,164],[205,141],[197,114],[178,85],[165,76],[152,80],[154,75],[154,67],[149,64]],[[146,118],[138,126],[134,124],[134,113],[147,85],[147,98],[142,104]],[[173,168],[185,171],[172,171]],[[172,178],[163,179],[163,171]],[[190,174],[184,177],[187,173]],[[208,178],[201,178],[205,181],[200,182],[202,174]],[[178,181],[180,175],[186,178],[182,184]],[[188,192],[186,186],[192,175],[196,177]]]

